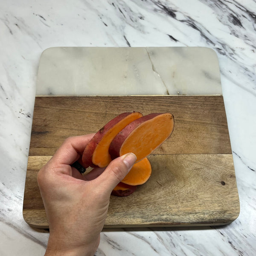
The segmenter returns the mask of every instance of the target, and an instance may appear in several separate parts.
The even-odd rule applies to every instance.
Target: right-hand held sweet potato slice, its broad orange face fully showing
[[[171,113],[151,113],[134,120],[112,140],[111,158],[132,152],[137,162],[151,154],[172,134],[174,117]]]

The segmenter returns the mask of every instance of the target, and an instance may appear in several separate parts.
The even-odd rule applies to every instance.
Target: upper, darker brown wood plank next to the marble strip
[[[29,155],[52,155],[65,138],[96,132],[130,111],[175,116],[172,137],[154,154],[231,154],[222,96],[38,96]]]

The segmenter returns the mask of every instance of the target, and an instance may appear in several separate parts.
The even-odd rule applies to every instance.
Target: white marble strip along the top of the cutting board
[[[41,55],[36,95],[168,94],[222,95],[216,53],[207,47],[53,47]]]

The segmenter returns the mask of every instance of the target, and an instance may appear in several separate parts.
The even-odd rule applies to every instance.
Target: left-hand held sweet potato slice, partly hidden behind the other
[[[94,135],[85,147],[82,155],[83,164],[91,167],[106,167],[111,162],[108,149],[113,138],[126,125],[141,116],[143,114],[140,112],[125,112],[109,121]]]

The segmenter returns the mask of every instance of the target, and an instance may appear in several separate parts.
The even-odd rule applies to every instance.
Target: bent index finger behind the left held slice
[[[52,157],[52,161],[58,164],[71,164],[83,154],[84,148],[94,134],[81,135],[67,138]]]

